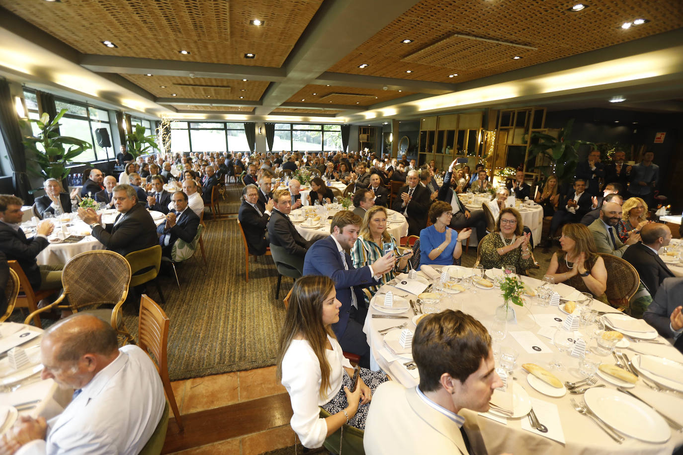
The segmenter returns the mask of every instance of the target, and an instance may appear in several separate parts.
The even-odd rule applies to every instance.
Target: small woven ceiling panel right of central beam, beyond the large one
[[[316,93],[313,95],[313,93]],[[326,87],[325,85],[307,85],[299,90],[287,102],[313,102],[370,106],[382,101],[393,100],[401,96],[410,95],[413,92],[382,90],[382,89],[359,89],[357,87]]]

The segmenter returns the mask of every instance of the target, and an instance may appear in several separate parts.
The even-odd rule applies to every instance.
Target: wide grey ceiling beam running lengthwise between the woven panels
[[[419,0],[324,1],[283,65],[287,78],[270,84],[255,114],[278,108],[416,3]]]

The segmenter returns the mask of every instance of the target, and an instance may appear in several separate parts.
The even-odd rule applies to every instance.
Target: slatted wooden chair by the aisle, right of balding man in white
[[[137,325],[138,346],[148,353],[156,364],[156,370],[158,370],[161,383],[164,385],[166,398],[169,400],[171,409],[173,409],[173,416],[176,417],[176,424],[182,431],[182,419],[169,379],[167,353],[169,325],[171,325],[171,320],[166,316],[164,310],[147,295],[141,295],[140,317]]]

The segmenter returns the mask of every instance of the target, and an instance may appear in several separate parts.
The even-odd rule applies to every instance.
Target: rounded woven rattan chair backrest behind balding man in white
[[[117,252],[93,250],[76,254],[61,271],[64,294],[78,310],[86,306],[116,305],[128,295],[130,265]]]

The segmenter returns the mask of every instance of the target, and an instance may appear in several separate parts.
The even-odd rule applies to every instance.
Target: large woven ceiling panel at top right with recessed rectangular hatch
[[[563,0],[423,0],[329,69],[458,83],[683,27],[681,0],[607,0],[569,12]],[[626,21],[650,20],[622,29]],[[529,50],[460,38],[533,46]],[[401,40],[413,40],[402,44]],[[514,60],[518,55],[522,59]],[[367,68],[358,68],[366,63]],[[411,70],[411,73],[406,73]],[[449,78],[449,74],[458,76]]]

